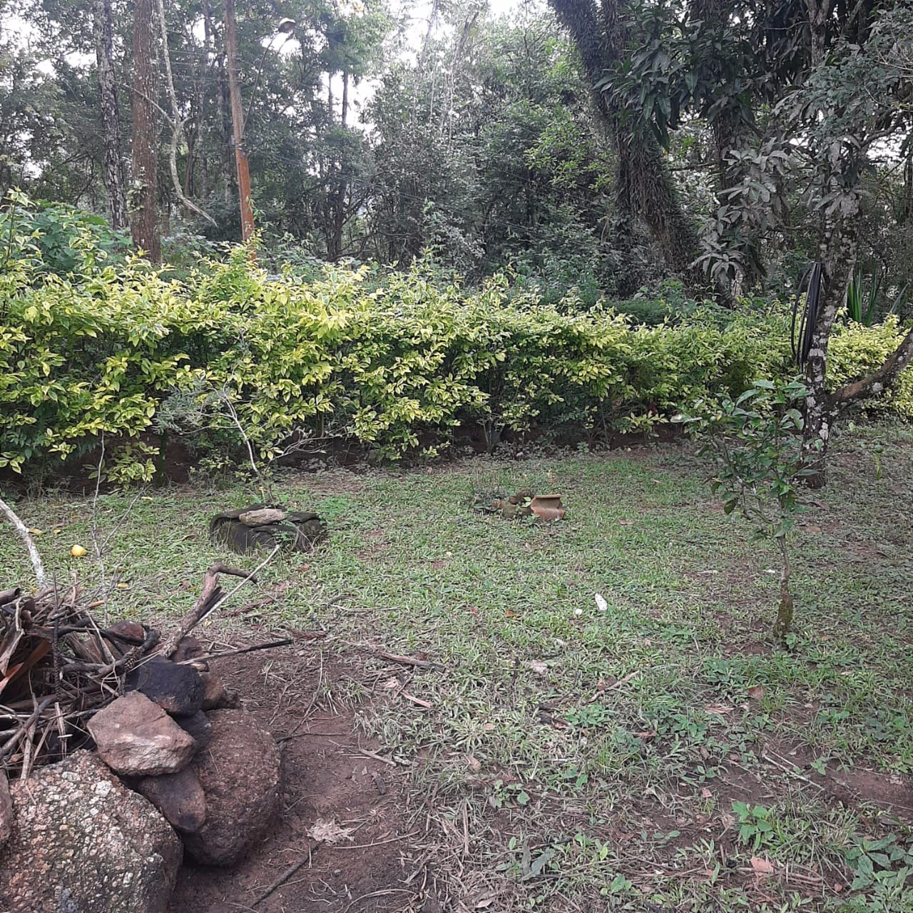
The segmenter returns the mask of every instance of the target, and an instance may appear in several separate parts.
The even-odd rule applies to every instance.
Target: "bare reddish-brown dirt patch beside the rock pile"
[[[410,807],[404,766],[375,754],[377,746],[358,733],[352,701],[338,697],[370,689],[363,673],[321,663],[320,649],[310,646],[233,657],[214,667],[284,746],[285,809],[273,834],[242,866],[184,866],[171,913],[441,909],[444,897],[437,896],[425,846],[426,816]],[[321,824],[325,832],[337,832],[336,843],[314,839]]]

